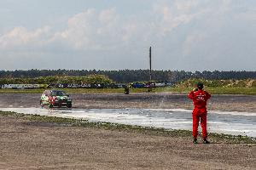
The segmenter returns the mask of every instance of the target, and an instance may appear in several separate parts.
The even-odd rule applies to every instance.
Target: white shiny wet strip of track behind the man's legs
[[[85,119],[90,122],[113,122],[166,129],[192,129],[191,111],[182,109],[43,109],[0,108],[0,111],[41,116],[59,116]],[[209,111],[209,133],[225,133],[256,137],[256,113],[236,111]],[[201,128],[199,127],[199,130]]]

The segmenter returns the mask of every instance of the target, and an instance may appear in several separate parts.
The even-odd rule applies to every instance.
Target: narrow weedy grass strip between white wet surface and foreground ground
[[[88,122],[82,119],[73,118],[61,118],[56,116],[38,116],[38,115],[25,115],[10,111],[0,111],[0,116],[12,116],[17,119],[29,120],[32,122],[48,122],[53,123],[53,125],[58,124],[63,127],[73,126],[73,127],[91,127],[97,129],[107,129],[113,131],[122,131],[129,133],[143,133],[148,135],[160,135],[171,138],[191,138],[192,132],[189,130],[166,130],[164,128],[157,127],[141,127],[141,126],[131,126],[125,124],[117,124],[110,122]],[[209,133],[208,138],[212,143],[228,143],[228,144],[256,144],[256,138],[241,136],[241,135],[229,135],[229,134],[218,134]]]

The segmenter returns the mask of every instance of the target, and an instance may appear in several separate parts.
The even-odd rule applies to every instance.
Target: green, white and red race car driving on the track
[[[44,105],[47,105],[49,106],[49,108],[62,107],[62,106],[71,108],[72,99],[64,91],[45,90],[41,96],[40,105],[42,105],[42,107],[44,107]]]

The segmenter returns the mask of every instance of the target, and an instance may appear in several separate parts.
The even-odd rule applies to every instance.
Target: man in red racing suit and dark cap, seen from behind
[[[203,83],[198,82],[197,88],[189,93],[189,99],[193,100],[195,106],[192,117],[193,117],[193,137],[194,144],[197,144],[198,125],[201,121],[202,138],[204,144],[209,144],[207,140],[207,99],[211,98],[211,94],[208,94],[203,90]]]

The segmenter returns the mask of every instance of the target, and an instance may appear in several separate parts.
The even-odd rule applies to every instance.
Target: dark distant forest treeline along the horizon
[[[86,77],[89,75],[105,75],[114,82],[148,82],[149,70],[29,70],[0,71],[0,78],[35,78],[35,77]],[[189,78],[207,80],[256,79],[256,71],[152,71],[152,80],[157,82],[179,82]]]

